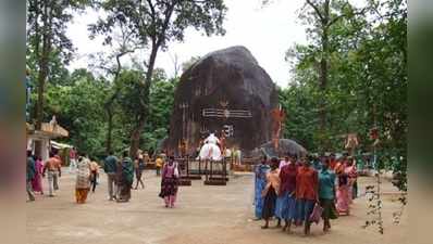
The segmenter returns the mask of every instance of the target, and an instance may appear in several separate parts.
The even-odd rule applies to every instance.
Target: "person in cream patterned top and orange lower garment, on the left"
[[[75,181],[75,198],[77,204],[86,203],[90,190],[90,160],[84,156],[78,158]]]

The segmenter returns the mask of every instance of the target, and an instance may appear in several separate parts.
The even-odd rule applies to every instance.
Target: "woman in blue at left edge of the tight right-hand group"
[[[262,219],[262,210],[263,210],[263,197],[262,192],[264,187],[267,185],[267,174],[271,170],[269,167],[268,157],[263,155],[260,164],[258,164],[255,168],[255,215],[256,220]]]

